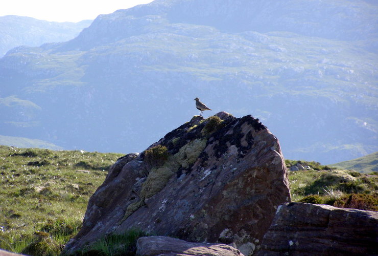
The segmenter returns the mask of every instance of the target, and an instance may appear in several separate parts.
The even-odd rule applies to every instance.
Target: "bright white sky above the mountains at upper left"
[[[95,19],[152,0],[0,0],[0,16],[18,15],[51,22],[79,22]]]

